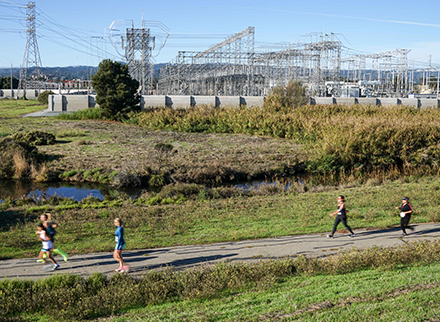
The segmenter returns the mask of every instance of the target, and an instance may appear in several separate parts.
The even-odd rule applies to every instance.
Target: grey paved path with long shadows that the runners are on
[[[124,251],[123,257],[130,265],[130,274],[141,276],[151,269],[173,266],[178,269],[220,261],[259,261],[264,259],[295,257],[297,255],[326,256],[352,247],[367,248],[374,245],[395,246],[419,239],[434,240],[440,238],[440,224],[415,224],[416,230],[400,238],[399,228],[383,230],[355,230],[356,237],[336,233],[335,238],[326,238],[325,234],[285,236],[270,239],[245,240],[240,242],[218,243],[211,245],[178,246],[156,249]],[[70,273],[88,276],[94,272],[115,274],[118,267],[112,253],[75,255],[63,262],[57,271],[43,271],[43,264],[36,263],[37,258],[0,261],[0,278],[36,279],[55,273]]]

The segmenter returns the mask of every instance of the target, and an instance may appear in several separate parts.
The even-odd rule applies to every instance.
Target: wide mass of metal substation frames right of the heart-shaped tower
[[[317,97],[404,97],[412,89],[409,50],[344,58],[344,48],[334,34],[316,33],[309,42],[256,52],[248,27],[205,51],[179,51],[160,69],[157,94],[266,96],[289,81]]]

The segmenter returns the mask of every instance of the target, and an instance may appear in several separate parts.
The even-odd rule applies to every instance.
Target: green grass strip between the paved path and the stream
[[[411,179],[411,178],[407,178]],[[436,177],[393,181],[380,186],[335,187],[331,191],[251,198],[186,201],[170,205],[134,205],[104,209],[49,209],[59,224],[57,244],[72,254],[110,251],[112,218],[126,222],[128,249],[204,244],[292,234],[325,233],[333,224],[328,214],[336,196],[347,198],[353,229],[384,228],[399,223],[394,208],[409,196],[415,209],[412,222],[439,220],[440,181]],[[0,239],[3,258],[35,256],[34,231],[42,211],[4,211]]]

